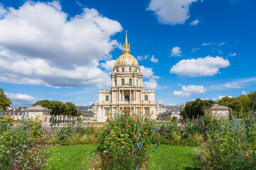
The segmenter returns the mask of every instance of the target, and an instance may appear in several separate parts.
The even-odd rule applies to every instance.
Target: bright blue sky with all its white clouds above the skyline
[[[127,30],[156,101],[247,94],[256,85],[255,8],[255,0],[4,0],[0,88],[14,107],[97,101]]]

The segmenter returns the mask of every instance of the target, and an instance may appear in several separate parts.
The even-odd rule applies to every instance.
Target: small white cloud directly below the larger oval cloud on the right
[[[174,91],[175,96],[188,97],[196,94],[203,94],[206,92],[204,86],[188,85],[182,86],[182,91]]]

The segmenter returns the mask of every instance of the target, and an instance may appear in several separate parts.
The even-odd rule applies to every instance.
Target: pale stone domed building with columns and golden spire
[[[127,34],[123,46],[123,54],[116,60],[111,74],[111,89],[99,91],[97,121],[106,121],[109,113],[126,112],[127,108],[131,114],[155,113],[154,90],[142,87],[143,75],[138,61],[131,55]]]

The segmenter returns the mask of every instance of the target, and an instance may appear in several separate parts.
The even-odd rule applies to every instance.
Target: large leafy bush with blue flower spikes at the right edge
[[[214,128],[209,128],[208,142],[205,147],[196,151],[196,157],[205,169],[255,169],[256,151],[253,146],[255,140],[255,115],[249,118],[230,120],[210,118],[215,122]]]

